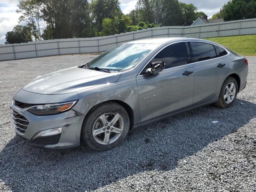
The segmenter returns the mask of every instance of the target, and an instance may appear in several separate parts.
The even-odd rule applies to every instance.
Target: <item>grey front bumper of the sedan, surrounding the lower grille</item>
[[[16,134],[28,144],[44,148],[72,148],[80,145],[83,114],[71,109],[61,114],[36,116],[14,104],[11,109],[29,120],[26,130],[22,132],[14,124]]]

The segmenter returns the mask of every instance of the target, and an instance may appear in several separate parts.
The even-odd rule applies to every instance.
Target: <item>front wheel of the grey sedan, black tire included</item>
[[[116,119],[118,120],[115,122]],[[124,140],[129,127],[130,118],[124,107],[116,102],[106,102],[85,117],[81,131],[82,141],[93,150],[106,151]]]

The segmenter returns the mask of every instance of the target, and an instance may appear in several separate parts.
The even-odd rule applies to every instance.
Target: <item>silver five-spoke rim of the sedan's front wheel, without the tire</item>
[[[102,145],[114,143],[124,130],[124,120],[118,113],[104,113],[94,122],[92,136]]]

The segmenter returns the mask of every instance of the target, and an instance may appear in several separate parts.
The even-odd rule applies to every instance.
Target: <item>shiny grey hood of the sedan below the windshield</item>
[[[39,94],[66,94],[116,82],[120,75],[72,67],[38,77],[23,90]]]

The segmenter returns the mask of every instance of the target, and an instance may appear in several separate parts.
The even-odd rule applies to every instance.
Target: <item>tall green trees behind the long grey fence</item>
[[[253,18],[255,2],[232,0],[213,18]],[[234,7],[240,4],[246,4],[244,8],[250,8],[251,14],[246,11],[239,16],[238,11],[233,14]],[[26,0],[19,2],[16,12],[21,14],[20,24],[7,32],[6,44],[32,41],[32,37],[34,40],[84,38],[158,26],[188,26],[205,16],[193,4],[178,0],[138,0],[136,8],[126,15],[122,13],[119,0]]]

